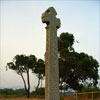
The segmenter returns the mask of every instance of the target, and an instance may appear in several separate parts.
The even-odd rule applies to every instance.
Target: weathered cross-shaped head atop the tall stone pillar
[[[48,8],[43,14],[42,14],[42,22],[46,23],[48,25],[55,25],[55,27],[58,29],[60,28],[60,19],[56,18],[57,12],[53,7]]]

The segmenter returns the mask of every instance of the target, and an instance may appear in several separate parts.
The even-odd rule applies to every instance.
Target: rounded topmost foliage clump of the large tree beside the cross
[[[74,43],[74,36],[72,34],[62,33],[58,37],[58,52],[61,57],[64,57],[65,54],[74,51],[72,47]]]

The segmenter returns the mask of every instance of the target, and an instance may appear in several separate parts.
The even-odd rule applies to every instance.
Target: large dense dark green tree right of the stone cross
[[[92,56],[76,52],[74,40],[74,36],[68,32],[58,37],[60,89],[64,83],[74,90],[81,90],[86,82],[96,87],[99,64]]]

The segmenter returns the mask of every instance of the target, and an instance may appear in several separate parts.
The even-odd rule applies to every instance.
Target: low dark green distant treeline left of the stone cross
[[[12,88],[4,88],[0,89],[0,97],[7,97],[7,98],[16,98],[16,97],[24,97],[26,96],[25,89],[12,89]],[[44,88],[38,88],[37,91],[32,91],[30,93],[30,97],[36,97],[36,95],[40,98],[44,97]]]

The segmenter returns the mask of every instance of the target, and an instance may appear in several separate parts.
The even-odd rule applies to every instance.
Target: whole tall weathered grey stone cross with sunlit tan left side
[[[53,7],[42,14],[42,22],[46,27],[46,70],[45,70],[45,100],[59,100],[59,67],[57,29],[60,28],[60,19],[56,18]]]

